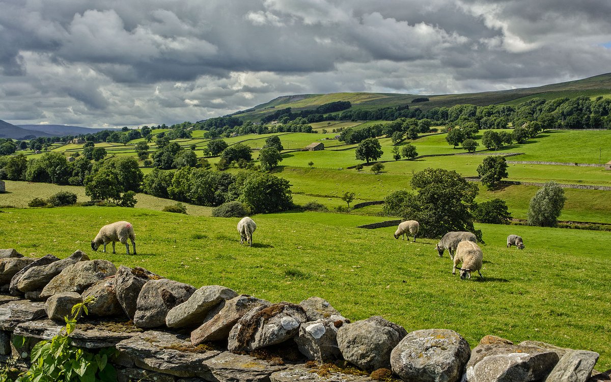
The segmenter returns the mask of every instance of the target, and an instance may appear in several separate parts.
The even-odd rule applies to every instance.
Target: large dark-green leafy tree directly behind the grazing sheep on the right
[[[384,199],[384,212],[414,219],[420,223],[419,235],[439,238],[450,231],[469,231],[481,240],[473,226],[472,209],[478,187],[456,171],[427,168],[416,172],[410,185],[417,193],[397,191]],[[392,208],[390,208],[392,206]]]

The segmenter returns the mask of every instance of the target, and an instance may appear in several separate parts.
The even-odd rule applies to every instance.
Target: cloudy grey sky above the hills
[[[0,119],[180,123],[282,95],[611,72],[609,0],[0,0]]]

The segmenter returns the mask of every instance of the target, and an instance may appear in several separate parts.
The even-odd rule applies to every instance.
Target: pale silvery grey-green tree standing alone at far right
[[[530,199],[527,219],[531,226],[555,227],[565,206],[565,190],[555,182],[547,182]]]

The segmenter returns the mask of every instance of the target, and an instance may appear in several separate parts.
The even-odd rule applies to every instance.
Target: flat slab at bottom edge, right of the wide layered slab
[[[286,365],[273,365],[263,359],[244,354],[233,354],[224,351],[214,358],[203,361],[209,369],[197,376],[208,381],[218,382],[259,382],[269,381],[274,372],[287,369]]]

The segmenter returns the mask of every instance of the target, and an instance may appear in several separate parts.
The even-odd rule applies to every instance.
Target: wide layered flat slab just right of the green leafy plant
[[[208,371],[205,362],[220,351],[191,346],[188,336],[146,331],[117,343],[119,357],[130,358],[137,367],[175,376],[190,377]]]

